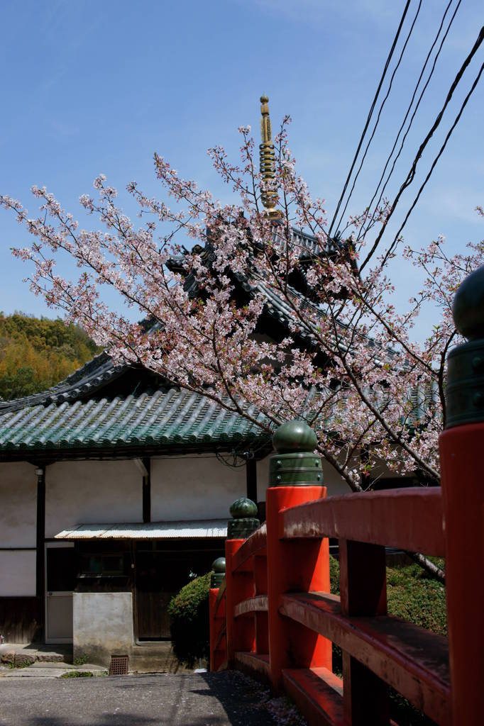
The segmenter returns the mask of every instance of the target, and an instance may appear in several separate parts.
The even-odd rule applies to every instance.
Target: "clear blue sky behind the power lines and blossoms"
[[[404,33],[417,5],[412,0]],[[422,1],[351,213],[371,198],[445,5],[446,0]],[[90,191],[100,172],[118,189],[136,179],[156,194],[156,150],[180,174],[226,200],[227,190],[206,149],[222,144],[236,153],[236,129],[249,123],[257,131],[264,92],[270,97],[273,126],[285,113],[292,116],[290,146],[299,172],[331,212],[403,6],[400,0],[4,0],[0,191],[23,200],[33,213],[29,189],[45,184],[76,216],[79,195]],[[483,17],[480,1],[462,2],[408,137],[393,192]],[[418,179],[427,172],[483,60],[481,47],[445,115],[443,131],[432,139]],[[484,237],[474,211],[477,204],[484,205],[483,129],[481,82],[406,227],[408,242],[424,245],[442,233],[448,248],[457,250]],[[400,214],[412,199],[412,192],[403,197]],[[395,222],[401,220],[395,217]],[[21,282],[28,268],[9,251],[26,242],[28,235],[1,210],[0,310],[53,317]],[[418,281],[401,264],[392,274],[403,305]]]

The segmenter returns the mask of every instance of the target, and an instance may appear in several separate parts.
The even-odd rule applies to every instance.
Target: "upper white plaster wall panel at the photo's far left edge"
[[[0,547],[35,547],[36,520],[35,467],[0,464]]]

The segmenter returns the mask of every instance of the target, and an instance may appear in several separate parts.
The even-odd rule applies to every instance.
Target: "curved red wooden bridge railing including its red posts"
[[[388,725],[389,685],[437,724],[482,723],[484,601],[475,603],[472,592],[475,585],[482,595],[482,542],[472,539],[476,532],[467,542],[465,528],[484,513],[484,488],[468,457],[470,447],[482,448],[484,425],[459,431],[442,442],[455,496],[445,488],[448,476],[443,493],[435,487],[326,498],[320,485],[270,486],[267,521],[225,544],[225,580],[210,591],[211,669],[243,669],[285,690],[311,725]],[[292,452],[293,459],[308,456],[315,460],[300,447]],[[469,490],[476,492],[474,513]],[[235,529],[241,522],[235,510]],[[454,530],[457,557],[449,542]],[[328,537],[339,539],[340,596],[329,592]],[[385,546],[447,558],[451,669],[447,638],[387,614]],[[453,556],[467,575],[452,571]],[[342,648],[342,679],[332,672],[331,643]]]

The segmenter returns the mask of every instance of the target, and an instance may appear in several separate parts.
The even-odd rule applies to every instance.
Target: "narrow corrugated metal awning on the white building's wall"
[[[180,537],[227,537],[227,520],[80,524],[75,529],[63,529],[55,535],[55,539],[178,539]]]

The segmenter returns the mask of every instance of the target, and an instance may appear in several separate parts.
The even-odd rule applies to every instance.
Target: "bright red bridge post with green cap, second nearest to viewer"
[[[273,444],[266,495],[269,662],[273,688],[281,691],[283,669],[331,670],[331,642],[279,613],[286,592],[329,591],[329,548],[326,538],[285,542],[281,532],[281,510],[326,496],[314,431],[288,422]]]

